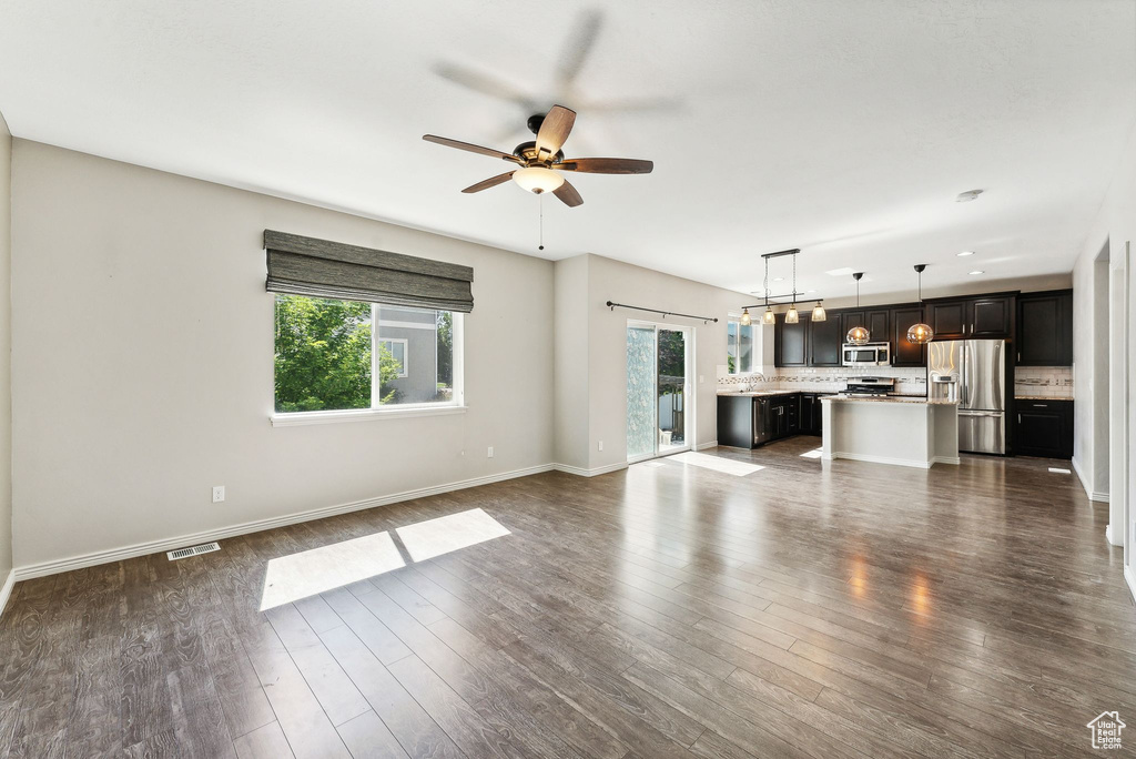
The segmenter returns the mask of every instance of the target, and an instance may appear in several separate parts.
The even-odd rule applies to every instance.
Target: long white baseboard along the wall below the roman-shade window
[[[427,495],[438,495],[441,493],[449,493],[456,490],[477,487],[478,485],[488,485],[504,479],[515,479],[516,477],[527,477],[529,475],[541,474],[542,472],[550,472],[552,468],[553,465],[551,464],[542,464],[540,466],[527,467],[525,469],[516,469],[513,472],[502,472],[500,474],[486,475],[484,477],[473,477],[470,479],[451,482],[444,485],[419,487],[417,490],[408,490],[401,493],[393,493],[391,495],[379,495],[378,498],[368,498],[362,501],[339,503],[336,506],[327,506],[319,509],[311,509],[310,511],[289,514],[283,517],[270,517],[268,519],[245,522],[239,525],[232,525],[229,527],[208,529],[206,532],[195,533],[193,535],[178,535],[177,537],[167,537],[164,540],[148,541],[145,543],[135,543],[133,545],[125,545],[123,548],[110,549],[109,551],[95,551],[93,553],[84,553],[82,556],[75,556],[67,559],[57,559],[55,561],[43,561],[41,564],[32,564],[23,567],[16,567],[11,572],[11,575],[15,576],[15,579],[17,582],[23,579],[32,579],[33,577],[57,575],[62,572],[72,572],[74,569],[82,569],[84,567],[94,567],[100,564],[109,564],[111,561],[123,561],[124,559],[133,559],[140,556],[149,556],[150,553],[169,551],[175,548],[197,545],[199,543],[208,543],[216,540],[233,537],[235,535],[248,535],[249,533],[257,533],[262,529],[272,529],[273,527],[285,527],[287,525],[294,525],[301,522],[311,522],[314,519],[324,519],[326,517],[333,517],[339,514],[348,514],[350,511],[362,511],[364,509],[373,509],[377,506],[387,506],[390,503],[409,501],[416,498],[425,498]],[[11,577],[9,577],[9,581]]]

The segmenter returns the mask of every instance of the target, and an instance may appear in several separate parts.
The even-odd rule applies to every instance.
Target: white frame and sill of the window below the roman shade
[[[277,294],[287,293],[269,293],[272,298],[273,308],[273,327],[275,330],[275,305]],[[304,295],[310,298],[310,295]],[[326,299],[325,299],[326,300]],[[334,300],[334,299],[333,299]],[[344,300],[344,299],[340,299]],[[393,340],[406,342],[406,340],[381,337],[376,335],[378,323],[378,307],[385,306],[389,308],[407,308],[404,306],[399,306],[395,303],[379,303],[370,301],[371,305],[371,361],[374,361],[375,347],[381,340]],[[433,311],[444,311],[444,308],[437,309],[421,309],[421,310],[433,310]],[[368,422],[376,419],[390,419],[390,418],[408,418],[408,417],[420,417],[420,416],[449,416],[454,414],[465,414],[467,410],[466,406],[466,314],[463,311],[448,311],[452,318],[452,330],[453,330],[453,386],[452,386],[452,398],[444,402],[433,402],[427,401],[423,403],[394,403],[394,404],[378,404],[375,406],[375,393],[371,393],[371,407],[366,409],[321,409],[318,411],[276,411],[276,386],[275,386],[275,373],[270,373],[269,382],[269,409],[268,419],[274,427],[293,427],[303,426],[311,424],[336,424],[342,422]],[[269,335],[273,331],[269,332]],[[435,343],[437,331],[435,330]],[[275,355],[275,351],[273,352]],[[407,358],[403,368],[409,364],[409,345],[406,348],[404,356]],[[374,376],[374,369],[371,372]],[[400,375],[401,376],[401,375]]]

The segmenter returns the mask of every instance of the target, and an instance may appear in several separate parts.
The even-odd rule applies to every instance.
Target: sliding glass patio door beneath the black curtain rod
[[[627,322],[627,462],[691,450],[694,330]]]

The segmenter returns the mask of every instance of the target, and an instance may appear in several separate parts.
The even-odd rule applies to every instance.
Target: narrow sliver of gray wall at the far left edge
[[[0,114],[0,592],[11,548],[11,134]]]

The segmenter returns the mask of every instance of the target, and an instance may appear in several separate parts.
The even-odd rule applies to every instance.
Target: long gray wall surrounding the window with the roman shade
[[[550,261],[24,140],[12,157],[17,567],[552,460]],[[468,411],[272,426],[266,227],[471,266]]]

